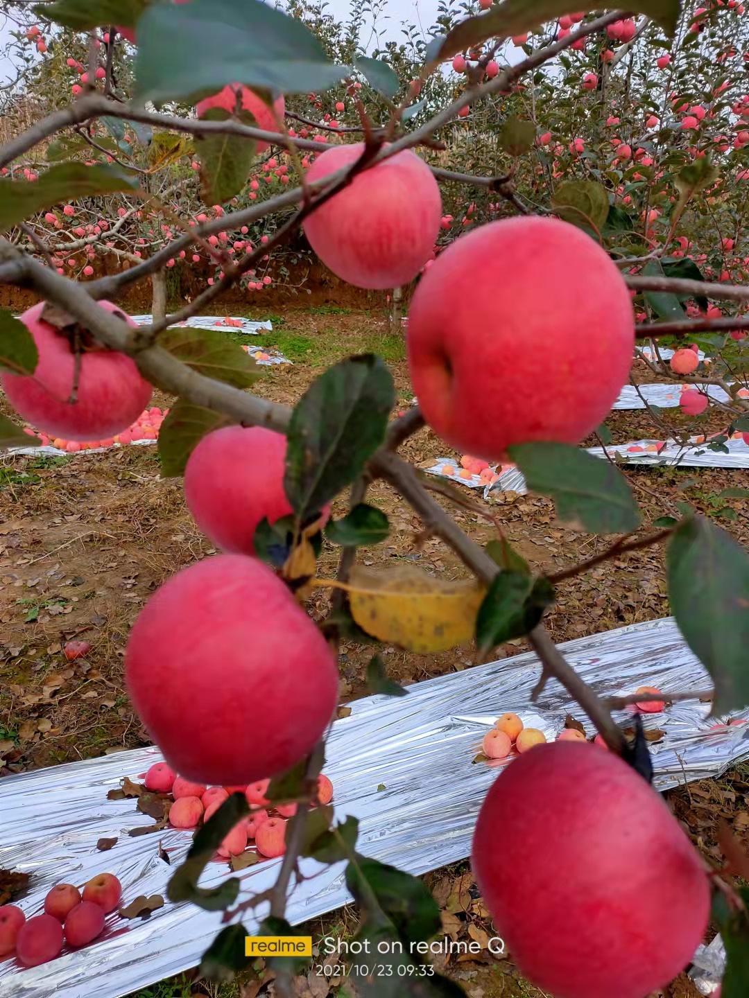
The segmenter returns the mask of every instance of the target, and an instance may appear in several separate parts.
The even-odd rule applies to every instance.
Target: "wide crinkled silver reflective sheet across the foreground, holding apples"
[[[581,638],[561,648],[600,695],[629,694],[642,685],[666,692],[701,692],[711,685],[673,619]],[[538,672],[537,659],[528,653],[416,684],[406,697],[374,696],[350,705],[351,715],[333,726],[325,771],[334,783],[337,818],[353,814],[360,819],[362,852],[416,874],[465,858],[478,809],[501,765],[473,759],[483,735],[505,711],[517,713],[547,739],[561,731],[567,713],[592,734],[582,711],[555,680],[530,705]],[[650,747],[659,789],[715,776],[749,757],[749,726],[711,730],[716,722],[708,719],[709,711],[708,704],[693,700],[645,717],[646,727],[664,733]],[[749,714],[736,717],[746,721]],[[158,749],[137,749],[0,779],[0,867],[31,874],[29,893],[19,902],[27,915],[40,910],[53,884],[80,884],[102,870],[121,879],[125,902],[139,894],[165,894],[190,833],[170,829],[129,837],[128,829],[151,818],[136,811],[133,799],[107,799],[123,776],[138,778],[160,758]],[[114,848],[97,851],[99,838],[115,836]],[[171,867],[159,858],[160,844]],[[236,874],[242,882],[240,900],[271,886],[280,862],[266,860]],[[288,908],[293,923],[351,900],[344,864],[323,867],[303,860],[302,869],[317,875],[294,889]],[[226,864],[214,862],[201,882],[216,884],[228,875]],[[245,919],[247,928],[252,931],[266,913],[258,908]],[[0,998],[127,994],[196,966],[221,917],[169,902],[145,922],[109,915],[105,935],[85,949],[64,951],[57,960],[27,970],[13,960],[0,962]]]

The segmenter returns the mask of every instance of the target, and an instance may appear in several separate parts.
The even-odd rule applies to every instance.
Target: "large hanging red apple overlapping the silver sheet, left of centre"
[[[320,630],[270,568],[244,555],[191,565],[151,597],[130,632],[125,675],[167,760],[204,783],[290,768],[338,702]]]

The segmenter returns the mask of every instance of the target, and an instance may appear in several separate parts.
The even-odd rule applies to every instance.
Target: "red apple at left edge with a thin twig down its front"
[[[110,301],[99,305],[135,322]],[[87,350],[80,358],[77,401],[71,402],[75,355],[69,340],[41,318],[40,301],[21,315],[39,350],[33,375],[0,374],[13,408],[37,429],[68,440],[98,440],[120,433],[143,412],[152,388],[135,363],[115,350]]]

